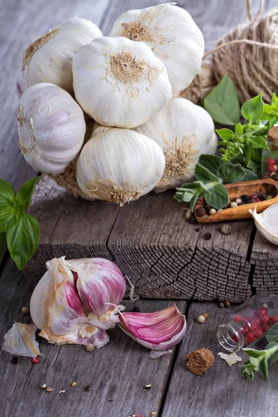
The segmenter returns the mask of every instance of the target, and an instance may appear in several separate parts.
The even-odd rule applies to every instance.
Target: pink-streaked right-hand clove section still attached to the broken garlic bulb
[[[108,304],[120,304],[126,292],[126,279],[115,263],[103,258],[84,258],[63,259],[63,264],[74,272],[76,288],[89,317],[94,313],[101,322],[107,322],[117,313]]]

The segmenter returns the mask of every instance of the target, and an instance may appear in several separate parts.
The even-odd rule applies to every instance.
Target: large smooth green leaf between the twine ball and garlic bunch
[[[236,87],[228,75],[204,99],[204,108],[215,122],[234,125],[239,122],[240,107]]]

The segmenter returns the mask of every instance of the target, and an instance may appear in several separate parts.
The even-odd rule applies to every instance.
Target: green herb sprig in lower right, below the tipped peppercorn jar
[[[266,334],[268,345],[265,350],[243,349],[250,357],[243,365],[240,365],[241,375],[253,381],[254,373],[261,370],[263,376],[268,379],[268,368],[278,360],[278,323],[275,323]]]

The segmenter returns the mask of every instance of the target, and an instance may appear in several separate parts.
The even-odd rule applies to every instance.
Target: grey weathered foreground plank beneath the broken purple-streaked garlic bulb
[[[0,302],[3,319],[0,340],[15,320],[22,321],[22,306],[28,305],[32,288],[9,262],[1,275]],[[127,302],[127,308],[138,306],[141,311],[157,311],[172,304],[170,301],[139,300]],[[185,311],[186,302],[177,302]],[[24,317],[26,321],[26,316]],[[40,341],[40,364],[32,365],[21,357],[17,364],[12,355],[0,352],[2,378],[0,386],[0,415],[3,417],[51,416],[129,416],[140,413],[149,416],[159,411],[170,372],[173,354],[150,359],[149,351],[120,328],[109,332],[108,345],[86,352],[78,345],[56,346]],[[78,382],[72,388],[72,382]],[[54,388],[53,393],[40,389],[42,384]],[[145,392],[145,384],[152,389]],[[85,391],[90,386],[90,391]],[[58,391],[65,389],[65,393]]]

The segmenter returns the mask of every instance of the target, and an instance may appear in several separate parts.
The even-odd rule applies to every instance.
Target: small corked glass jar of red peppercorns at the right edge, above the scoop
[[[263,149],[261,154],[262,177],[270,177],[272,172],[278,176],[278,126],[268,131],[268,146],[269,149]]]

